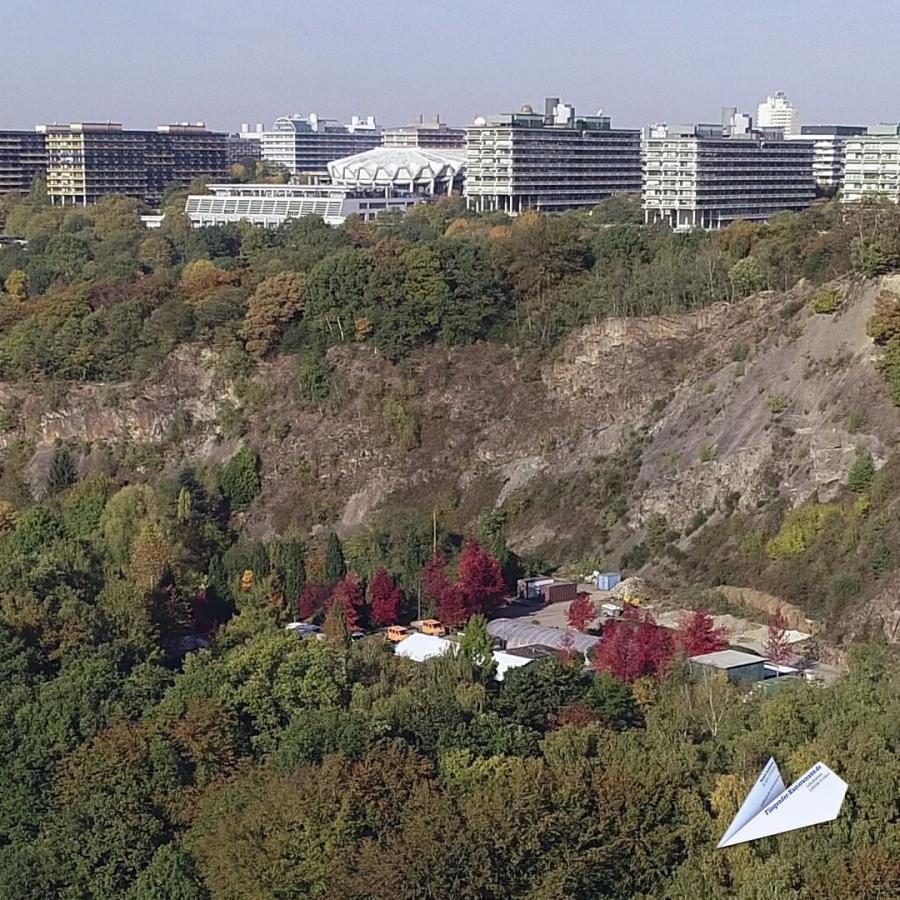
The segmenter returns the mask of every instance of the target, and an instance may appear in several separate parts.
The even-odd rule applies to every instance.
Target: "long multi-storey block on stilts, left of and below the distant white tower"
[[[808,206],[816,195],[812,143],[787,141],[776,129],[753,131],[748,123],[729,109],[722,125],[645,129],[645,221],[722,228]]]

